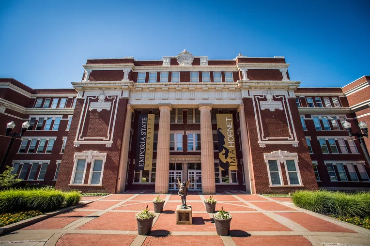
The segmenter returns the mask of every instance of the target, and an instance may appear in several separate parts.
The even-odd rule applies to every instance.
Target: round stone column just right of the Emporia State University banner
[[[155,170],[155,193],[166,194],[169,190],[170,175],[170,114],[171,106],[159,107],[159,127],[157,144],[157,166]]]

